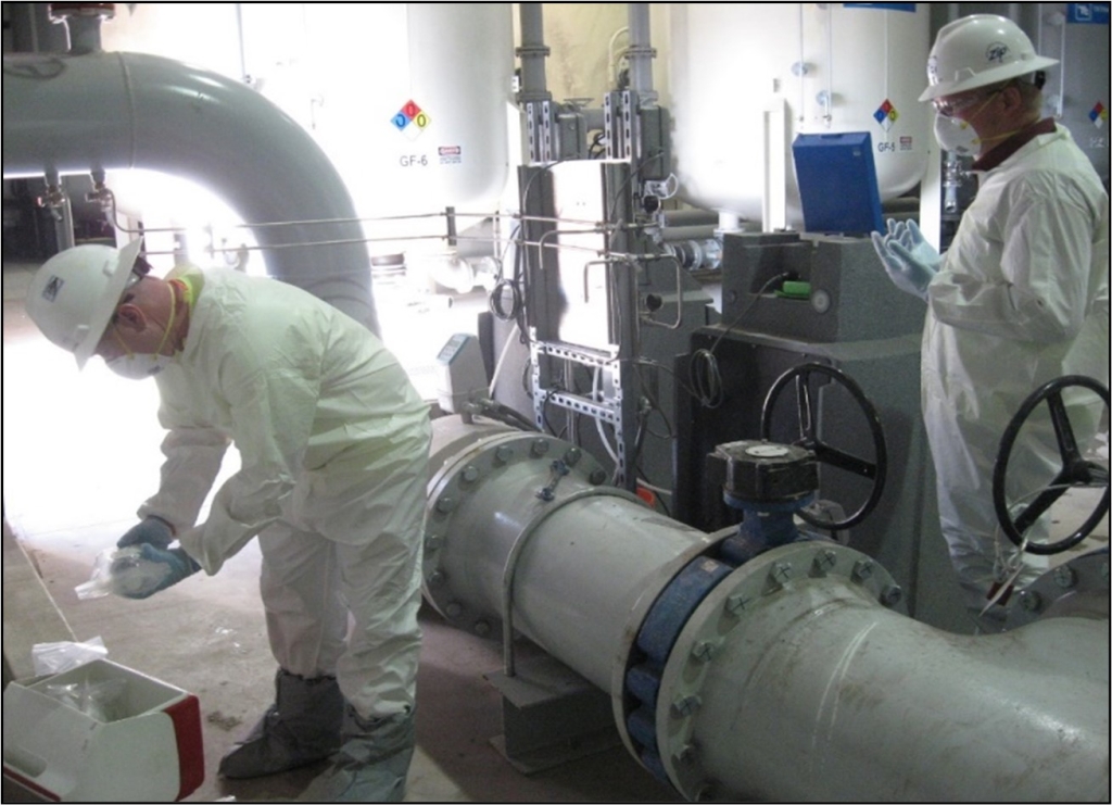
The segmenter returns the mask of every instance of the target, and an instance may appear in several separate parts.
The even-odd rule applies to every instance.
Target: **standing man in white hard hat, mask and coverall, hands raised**
[[[942,533],[979,613],[1036,572],[1000,559],[992,475],[1009,421],[1055,378],[1109,382],[1109,197],[1070,132],[1042,117],[1043,70],[1055,63],[1003,17],[942,28],[920,100],[934,103],[939,145],[975,157],[976,199],[944,256],[914,222],[873,235],[893,281],[927,304],[923,417]],[[1091,399],[1071,407],[1079,438],[1098,428],[1103,404]],[[1049,426],[1032,434],[1026,458],[1009,466],[1026,494],[1061,467]]]

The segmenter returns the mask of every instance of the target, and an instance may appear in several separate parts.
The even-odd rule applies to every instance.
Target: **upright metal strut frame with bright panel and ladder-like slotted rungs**
[[[609,425],[616,443],[614,484],[633,490],[639,410],[634,370],[639,267],[626,257],[626,225],[633,217],[631,166],[615,161],[530,166],[522,168],[519,180],[536,425],[550,430],[553,409],[563,409],[565,436],[573,443],[578,440],[580,416]],[[587,212],[597,219],[595,225],[558,229],[555,220],[562,215],[568,218],[560,188],[572,187],[578,193],[585,181],[594,182],[597,191],[590,193]],[[583,218],[582,210],[578,218]],[[592,290],[590,278],[597,276],[603,277],[602,295]],[[594,329],[584,331],[583,321],[590,319],[595,319]],[[575,390],[576,367],[608,372],[605,399]]]

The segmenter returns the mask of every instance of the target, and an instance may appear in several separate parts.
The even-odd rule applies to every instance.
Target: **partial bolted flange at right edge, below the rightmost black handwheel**
[[[1078,556],[1024,587],[1009,606],[1004,630],[1046,616],[1109,617],[1109,549]]]

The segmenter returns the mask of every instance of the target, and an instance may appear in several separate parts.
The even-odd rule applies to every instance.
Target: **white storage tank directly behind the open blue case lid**
[[[802,229],[798,133],[867,131],[882,200],[922,179],[927,4],[672,3],[669,36],[673,156],[689,203],[765,225],[778,193]]]

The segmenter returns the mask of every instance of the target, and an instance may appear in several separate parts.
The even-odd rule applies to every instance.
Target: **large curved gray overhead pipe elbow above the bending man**
[[[252,228],[272,277],[378,334],[370,257],[347,188],[269,100],[156,56],[3,57],[4,178],[130,168],[211,189]]]

